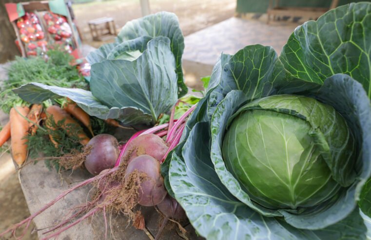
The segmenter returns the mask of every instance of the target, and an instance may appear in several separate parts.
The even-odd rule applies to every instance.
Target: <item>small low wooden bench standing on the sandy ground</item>
[[[102,41],[117,35],[113,18],[99,18],[88,22],[93,40]]]

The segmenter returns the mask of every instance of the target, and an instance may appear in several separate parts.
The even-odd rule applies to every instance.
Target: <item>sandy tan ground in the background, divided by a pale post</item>
[[[233,17],[235,6],[236,0],[150,0],[151,13],[168,11],[178,16],[185,36]],[[89,20],[112,17],[119,30],[127,21],[142,17],[139,0],[74,4],[73,10],[83,40],[94,46],[95,42],[90,43]]]

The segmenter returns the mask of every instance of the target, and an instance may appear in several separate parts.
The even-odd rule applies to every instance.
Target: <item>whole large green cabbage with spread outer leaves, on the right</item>
[[[182,141],[161,165],[169,193],[202,237],[365,240],[370,235],[367,216],[361,215],[357,206],[360,197],[360,205],[365,204],[363,211],[368,214],[370,9],[370,3],[350,4],[304,24],[295,30],[280,58],[271,47],[261,45],[247,46],[233,56],[221,55]],[[325,44],[321,46],[318,39]],[[352,46],[360,48],[353,51]],[[281,95],[295,96],[295,100],[278,100]],[[322,108],[319,102],[331,108]],[[314,111],[316,108],[319,111]],[[248,134],[244,127],[250,119],[242,117],[246,112],[257,122]],[[243,119],[234,126],[234,119],[239,117]],[[283,121],[286,119],[290,122]],[[336,123],[339,120],[343,123]],[[296,129],[289,136],[286,130],[290,128]],[[348,140],[351,135],[354,145]],[[291,144],[293,140],[297,142]],[[223,142],[230,146],[223,149]],[[312,171],[315,160],[310,161],[314,165],[309,168],[302,164],[305,150],[312,149],[307,147],[310,145],[317,149],[312,157],[322,158],[316,171]],[[294,156],[289,148],[300,153]],[[323,169],[327,169],[324,175]],[[313,183],[318,172],[337,184],[322,192],[328,197],[313,197],[315,190],[309,191],[313,186],[306,186],[300,178],[296,178],[301,187],[295,195],[308,194],[305,199],[311,203],[295,206],[285,199],[287,196],[274,195],[275,190],[283,189],[279,179],[290,180],[290,174],[294,177],[299,173],[308,175],[303,177]],[[254,188],[238,175],[251,178]],[[317,183],[324,187],[329,184],[326,180]]]

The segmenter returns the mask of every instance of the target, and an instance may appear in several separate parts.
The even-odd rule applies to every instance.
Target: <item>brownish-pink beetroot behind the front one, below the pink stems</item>
[[[124,156],[131,154],[128,163],[140,155],[149,155],[158,161],[165,156],[168,146],[160,137],[155,134],[144,134],[135,138],[133,141],[129,142],[126,146]]]

